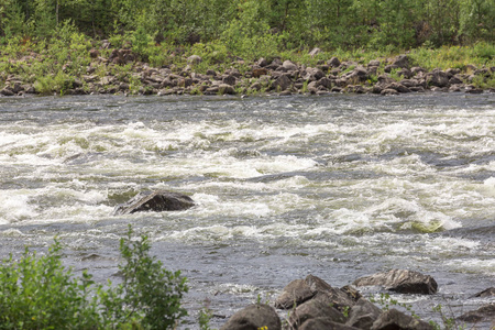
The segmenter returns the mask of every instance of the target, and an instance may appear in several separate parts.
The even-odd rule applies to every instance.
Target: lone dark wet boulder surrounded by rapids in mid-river
[[[118,205],[113,210],[113,215],[120,216],[146,211],[182,211],[194,206],[194,200],[183,194],[163,190],[142,191],[127,202]]]

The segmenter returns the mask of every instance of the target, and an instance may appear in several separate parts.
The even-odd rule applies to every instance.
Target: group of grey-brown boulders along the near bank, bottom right
[[[366,299],[359,292],[363,286],[382,287],[404,295],[433,295],[438,289],[431,276],[406,270],[362,277],[342,288],[308,275],[305,279],[289,283],[273,307],[263,304],[248,306],[235,312],[221,330],[433,330],[464,329],[465,323],[474,323],[472,329],[485,329],[476,327],[481,323],[491,324],[486,329],[495,327],[495,304],[486,304],[457,319],[442,316],[444,324],[436,324],[419,319],[406,304],[399,304],[387,295],[382,296],[381,301]],[[495,289],[490,288],[474,297],[494,296]],[[280,320],[276,309],[289,310],[288,317]],[[442,312],[441,309],[439,312]]]

